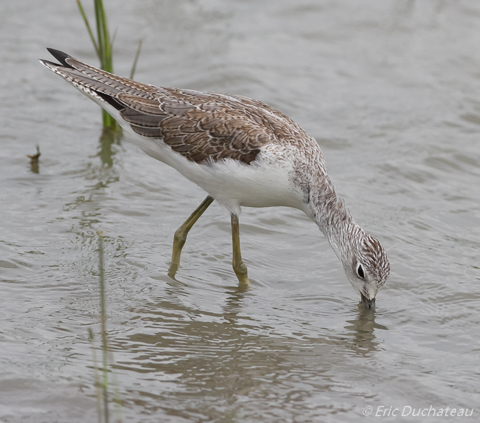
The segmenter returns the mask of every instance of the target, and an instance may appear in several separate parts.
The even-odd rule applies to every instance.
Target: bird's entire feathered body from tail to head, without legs
[[[41,60],[43,65],[104,107],[147,154],[231,213],[279,205],[305,212],[361,299],[375,298],[389,276],[385,251],[337,196],[315,139],[289,117],[250,98],[141,84],[49,51],[60,64]]]

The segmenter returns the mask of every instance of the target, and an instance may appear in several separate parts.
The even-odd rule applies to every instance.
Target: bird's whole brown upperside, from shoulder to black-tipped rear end
[[[75,87],[108,102],[135,133],[162,139],[191,161],[235,159],[250,164],[268,142],[290,138],[298,126],[273,108],[236,95],[158,88],[112,75],[64,52],[60,64],[41,60]]]

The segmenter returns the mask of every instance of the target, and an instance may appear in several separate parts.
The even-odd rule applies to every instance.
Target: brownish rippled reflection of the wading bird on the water
[[[271,409],[301,408],[312,391],[327,393],[337,384],[337,371],[349,360],[346,350],[376,351],[374,329],[386,329],[374,322],[373,312],[359,310],[346,327],[354,336],[324,336],[319,329],[289,334],[281,323],[269,325],[252,314],[258,293],[237,286],[205,293],[162,280],[166,287],[158,299],[130,310],[127,325],[137,329],[110,337],[115,369],[137,374],[139,387],[128,398],[150,411],[219,422],[226,415],[235,421],[247,398],[262,398]],[[223,304],[208,308],[211,301]]]

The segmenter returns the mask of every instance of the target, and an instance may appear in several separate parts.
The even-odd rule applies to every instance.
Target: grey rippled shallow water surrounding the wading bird
[[[98,230],[125,422],[366,421],[391,406],[473,408],[477,421],[480,5],[106,8],[117,73],[144,38],[136,79],[248,95],[311,133],[392,275],[364,312],[306,216],[243,209],[241,292],[214,203],[170,279],[173,232],[205,194],[125,141],[99,154],[99,108],[36,61],[55,47],[97,64],[74,1],[2,2],[0,421],[95,421]]]

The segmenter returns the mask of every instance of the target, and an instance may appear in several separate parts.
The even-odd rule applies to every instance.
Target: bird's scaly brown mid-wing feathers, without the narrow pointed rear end
[[[197,163],[229,158],[249,164],[261,146],[276,139],[280,128],[269,107],[255,100],[165,88],[154,96],[147,100],[119,93],[118,100],[126,106],[121,117],[139,135],[161,138]]]

